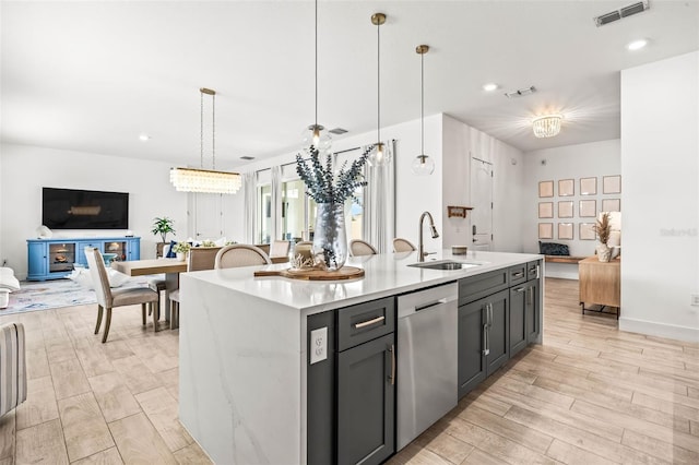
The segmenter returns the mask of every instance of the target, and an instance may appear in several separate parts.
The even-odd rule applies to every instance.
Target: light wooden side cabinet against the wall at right
[[[616,318],[621,313],[621,260],[601,262],[596,257],[589,257],[578,263],[580,279],[580,307],[585,310],[603,313],[605,308],[616,308]],[[600,308],[585,308],[585,303]]]

